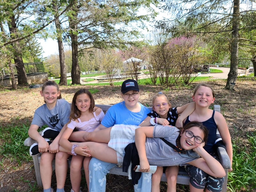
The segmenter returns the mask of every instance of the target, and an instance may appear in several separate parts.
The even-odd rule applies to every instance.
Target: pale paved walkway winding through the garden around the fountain
[[[212,69],[220,69],[223,72],[222,73],[201,74],[200,76],[211,76],[211,77],[216,78],[216,79],[227,79],[228,78],[228,73],[229,73],[230,68],[226,68],[226,67],[211,67],[211,68]],[[241,73],[241,72],[245,72],[245,70],[238,69],[238,73]],[[143,75],[139,76],[139,79],[145,79],[145,78],[148,78],[148,77],[149,77],[148,75],[143,74]],[[80,78],[81,84],[98,83],[98,80],[90,81],[90,82],[84,82],[83,80],[87,79],[87,78],[93,79],[94,77],[81,77]],[[68,77],[68,79],[71,79],[71,77]]]

